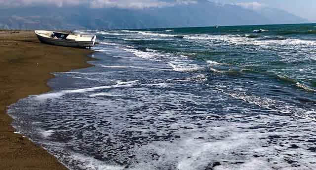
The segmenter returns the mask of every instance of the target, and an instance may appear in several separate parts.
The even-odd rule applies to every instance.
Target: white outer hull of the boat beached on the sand
[[[58,46],[66,46],[66,47],[76,47],[76,48],[86,48],[94,46],[96,36],[92,36],[91,41],[76,41],[69,39],[55,39],[51,37],[45,37],[37,32],[35,32],[37,37],[39,38],[41,43],[58,45]]]

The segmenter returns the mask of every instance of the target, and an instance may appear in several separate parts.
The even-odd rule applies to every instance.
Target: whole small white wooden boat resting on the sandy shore
[[[82,35],[53,31],[34,31],[41,43],[66,47],[86,48],[95,44],[96,35]]]

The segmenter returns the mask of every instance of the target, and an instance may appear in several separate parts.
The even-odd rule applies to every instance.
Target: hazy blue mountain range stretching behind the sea
[[[144,9],[33,6],[0,8],[0,13],[0,29],[130,29],[309,22],[276,8],[254,11],[208,0]]]

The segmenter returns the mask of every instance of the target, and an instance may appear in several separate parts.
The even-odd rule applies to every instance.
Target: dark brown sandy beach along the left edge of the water
[[[51,72],[89,67],[91,53],[41,44],[33,32],[0,32],[0,170],[67,170],[46,150],[14,134],[6,107],[50,91]]]

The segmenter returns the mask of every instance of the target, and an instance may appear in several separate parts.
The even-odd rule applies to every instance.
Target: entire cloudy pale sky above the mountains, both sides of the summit
[[[196,0],[0,0],[0,6],[38,4],[88,5],[90,7],[146,8],[195,3]],[[246,8],[275,7],[316,22],[316,0],[209,0],[222,4],[237,4]]]

